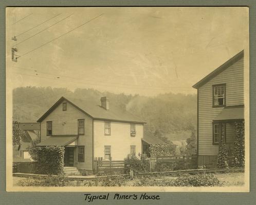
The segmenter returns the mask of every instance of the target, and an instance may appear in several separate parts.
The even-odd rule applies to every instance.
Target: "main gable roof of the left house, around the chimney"
[[[93,119],[137,122],[140,124],[146,123],[145,121],[143,121],[136,115],[130,113],[129,111],[122,110],[112,104],[109,106],[109,110],[106,110],[94,101],[71,98],[67,99],[65,97],[61,97],[45,114],[42,115],[42,117],[38,119],[38,122],[42,122],[64,100]]]

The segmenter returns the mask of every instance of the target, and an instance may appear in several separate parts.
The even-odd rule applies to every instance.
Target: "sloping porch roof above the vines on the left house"
[[[44,141],[41,141],[36,146],[66,146],[74,142],[78,135],[54,135]]]

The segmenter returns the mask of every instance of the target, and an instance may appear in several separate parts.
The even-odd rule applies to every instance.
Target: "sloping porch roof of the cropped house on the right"
[[[213,119],[213,121],[220,120],[235,120],[244,119],[244,106],[228,106],[225,107],[222,112]]]

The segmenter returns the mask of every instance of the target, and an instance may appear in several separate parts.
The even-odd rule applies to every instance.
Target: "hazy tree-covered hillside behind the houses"
[[[147,121],[145,130],[160,138],[170,140],[187,139],[196,129],[196,95],[166,93],[155,97],[114,94],[93,89],[20,87],[13,90],[13,119],[36,121],[61,96],[97,100],[108,96],[110,105],[140,116]]]

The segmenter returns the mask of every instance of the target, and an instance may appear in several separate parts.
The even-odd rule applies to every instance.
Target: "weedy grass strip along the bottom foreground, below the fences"
[[[120,177],[108,177],[104,179],[96,179],[90,181],[68,181],[63,178],[50,178],[52,176],[46,177],[45,179],[34,179],[34,178],[25,178],[25,177],[13,177],[13,186],[71,186],[71,187],[90,187],[90,186],[103,186],[103,187],[113,187],[113,186],[180,186],[183,182],[186,186],[187,180],[192,179],[193,183],[197,184],[198,174],[181,174],[179,176],[139,176],[134,180],[130,180],[129,176],[120,176]],[[212,179],[215,179],[212,183]],[[181,179],[181,180],[180,180]],[[196,180],[196,181],[195,181]],[[244,185],[244,173],[235,172],[235,173],[214,173],[208,175],[207,186],[243,186]],[[178,182],[178,183],[177,183]],[[182,183],[181,183],[182,182]],[[199,181],[200,182],[200,181]],[[205,183],[204,183],[205,184]],[[192,185],[190,185],[192,186]]]

